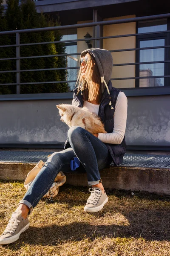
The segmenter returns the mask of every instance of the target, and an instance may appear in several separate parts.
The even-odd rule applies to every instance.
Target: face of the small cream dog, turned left
[[[71,118],[75,113],[75,108],[69,104],[56,105],[59,110],[60,120],[65,122],[67,125],[70,124]]]

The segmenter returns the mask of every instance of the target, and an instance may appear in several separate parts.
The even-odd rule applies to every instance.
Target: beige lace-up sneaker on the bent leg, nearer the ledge
[[[96,187],[90,188],[88,191],[91,192],[91,195],[84,207],[85,212],[99,212],[108,202],[108,196],[106,195],[106,192],[103,194],[102,189]]]

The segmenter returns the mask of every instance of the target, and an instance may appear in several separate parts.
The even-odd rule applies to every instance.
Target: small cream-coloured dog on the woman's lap
[[[59,109],[60,120],[65,122],[69,127],[80,126],[91,134],[106,133],[99,116],[90,113],[88,108],[79,108],[69,104],[56,106]]]

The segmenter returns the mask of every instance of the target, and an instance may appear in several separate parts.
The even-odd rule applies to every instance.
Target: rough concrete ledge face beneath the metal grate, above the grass
[[[32,163],[0,163],[0,180],[25,180]],[[115,167],[102,170],[105,188],[170,195],[170,169]],[[68,184],[87,186],[86,174],[66,174]]]

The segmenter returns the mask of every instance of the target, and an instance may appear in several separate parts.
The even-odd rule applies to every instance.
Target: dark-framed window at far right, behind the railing
[[[146,79],[136,79],[136,87],[160,87],[167,86],[167,79],[159,77],[165,76],[168,72],[168,64],[160,63],[168,59],[167,48],[161,48],[169,44],[167,33],[159,33],[167,31],[167,19],[150,20],[138,23],[138,33],[158,32],[150,35],[137,36],[137,48],[141,48],[136,52],[136,62],[143,63],[136,65],[136,76],[146,77]],[[153,49],[142,49],[146,47],[159,47]],[[150,62],[157,63],[150,63]],[[148,63],[147,63],[148,62]],[[157,78],[147,78],[150,76],[158,76]]]

